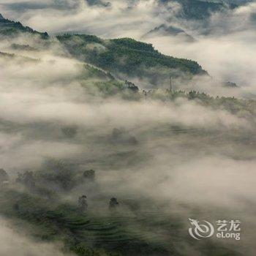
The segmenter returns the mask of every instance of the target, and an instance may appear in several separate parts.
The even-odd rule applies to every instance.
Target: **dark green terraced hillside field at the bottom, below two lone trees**
[[[31,225],[34,237],[63,241],[64,251],[77,255],[186,255],[192,246],[181,219],[157,211],[89,211],[10,188],[1,189],[0,213],[18,227]],[[211,245],[211,244],[210,244]],[[235,255],[222,246],[198,244],[207,255]],[[231,254],[229,254],[231,253]]]

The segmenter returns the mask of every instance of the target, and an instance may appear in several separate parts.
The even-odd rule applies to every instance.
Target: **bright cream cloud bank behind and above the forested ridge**
[[[14,8],[15,4],[17,8]],[[196,60],[214,78],[204,86],[200,80],[193,86],[217,95],[255,97],[255,2],[225,12],[216,12],[209,20],[184,20],[176,15],[176,2],[159,5],[158,1],[111,1],[109,6],[89,5],[82,0],[0,2],[7,18],[51,34],[80,32],[100,37],[132,37],[153,43],[162,53]],[[44,5],[44,7],[40,7]],[[61,5],[61,7],[60,7]],[[19,7],[20,6],[20,7]],[[21,9],[23,12],[19,12]],[[152,29],[165,24],[183,29],[195,42],[170,34],[144,38]],[[203,24],[203,26],[202,26]],[[241,90],[223,90],[223,82],[235,82]]]

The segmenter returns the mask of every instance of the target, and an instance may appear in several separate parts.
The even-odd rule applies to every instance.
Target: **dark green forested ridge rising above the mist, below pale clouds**
[[[206,75],[207,72],[195,61],[165,56],[150,44],[135,39],[121,38],[103,40],[95,36],[66,34],[57,37],[72,56],[112,72],[118,77],[124,75],[148,79],[154,85],[162,80],[192,75]]]

